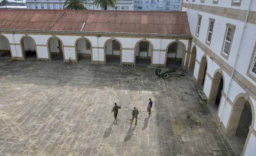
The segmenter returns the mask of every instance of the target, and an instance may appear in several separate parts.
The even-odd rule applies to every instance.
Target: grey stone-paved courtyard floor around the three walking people
[[[0,59],[0,155],[235,155],[191,75]],[[122,105],[117,123],[114,102]]]

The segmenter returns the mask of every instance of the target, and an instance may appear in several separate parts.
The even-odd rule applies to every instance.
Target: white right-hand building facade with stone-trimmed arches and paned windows
[[[243,111],[251,109],[241,155],[255,155],[256,0],[183,0],[182,11],[193,35],[188,68],[195,82],[208,104],[221,92],[216,118],[228,136],[236,136]]]

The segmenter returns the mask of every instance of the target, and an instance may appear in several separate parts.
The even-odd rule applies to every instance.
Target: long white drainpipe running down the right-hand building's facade
[[[246,14],[245,24],[243,25],[242,36],[241,36],[241,39],[240,39],[240,43],[239,43],[238,50],[237,50],[237,54],[236,54],[236,60],[235,60],[234,67],[233,67],[233,70],[232,70],[232,74],[231,74],[231,77],[230,77],[228,92],[227,92],[227,95],[226,95],[226,98],[225,98],[225,102],[224,102],[222,114],[221,114],[221,116],[220,116],[219,126],[220,126],[221,123],[222,123],[222,118],[223,118],[223,114],[224,114],[226,102],[227,102],[227,99],[228,99],[228,95],[229,95],[229,91],[230,91],[231,82],[232,82],[232,80],[233,80],[232,78],[233,78],[233,75],[234,75],[234,71],[235,71],[235,68],[236,68],[236,63],[237,63],[238,56],[239,56],[239,53],[240,53],[240,48],[241,48],[241,44],[242,44],[242,40],[243,40],[243,35],[245,34],[245,28],[246,28],[246,24],[247,24],[247,20],[248,20],[248,15],[249,15],[249,12],[250,12],[250,9],[251,9],[251,4],[252,4],[252,0],[250,0],[249,7],[248,7],[248,10],[247,10],[247,14]]]

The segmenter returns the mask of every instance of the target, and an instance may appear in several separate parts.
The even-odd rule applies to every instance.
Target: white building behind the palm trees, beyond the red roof
[[[92,5],[92,0],[83,5],[88,10],[102,10],[100,7]],[[26,0],[28,9],[63,9],[65,0]],[[109,7],[108,10],[134,10],[134,0],[119,0],[115,8]]]

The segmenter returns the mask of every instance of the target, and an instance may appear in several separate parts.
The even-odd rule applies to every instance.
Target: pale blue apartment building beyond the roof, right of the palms
[[[182,0],[135,0],[134,10],[180,11]]]

